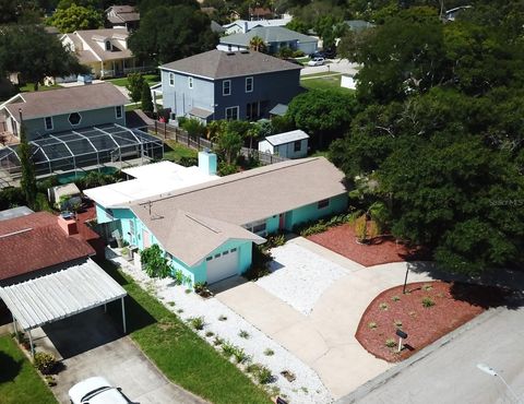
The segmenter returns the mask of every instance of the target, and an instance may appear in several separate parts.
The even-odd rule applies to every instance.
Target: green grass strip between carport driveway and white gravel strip
[[[215,404],[270,403],[235,365],[193,333],[177,316],[110,262],[100,263],[128,292],[131,338],[172,382]],[[119,304],[109,312],[121,322]]]

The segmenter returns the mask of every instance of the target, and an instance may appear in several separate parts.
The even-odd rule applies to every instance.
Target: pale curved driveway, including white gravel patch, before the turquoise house
[[[424,264],[365,268],[298,237],[273,249],[274,273],[216,297],[303,360],[334,397],[392,367],[355,338],[360,317],[382,290],[432,277]]]

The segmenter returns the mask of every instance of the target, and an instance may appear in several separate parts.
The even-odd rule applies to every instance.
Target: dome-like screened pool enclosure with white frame
[[[139,129],[105,124],[41,135],[29,142],[36,175],[100,166],[109,162],[164,155],[162,140]],[[0,150],[0,169],[9,174],[21,170],[17,146]]]

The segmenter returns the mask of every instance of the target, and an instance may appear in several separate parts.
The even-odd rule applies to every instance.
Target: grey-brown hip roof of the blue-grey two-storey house
[[[283,70],[299,70],[300,67],[261,52],[225,52],[214,49],[163,64],[160,69],[209,79],[225,79]]]

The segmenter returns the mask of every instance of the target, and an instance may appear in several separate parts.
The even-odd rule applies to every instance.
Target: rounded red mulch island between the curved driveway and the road
[[[388,361],[400,361],[417,350],[455,330],[489,307],[504,304],[507,290],[462,283],[428,282],[395,286],[382,292],[366,309],[358,324],[356,338],[370,354]],[[395,301],[394,296],[400,297]],[[422,299],[429,297],[432,307],[424,307]],[[386,309],[381,304],[388,305]],[[401,321],[397,326],[395,321]],[[376,328],[369,324],[376,323]],[[396,329],[407,333],[404,348],[398,349]],[[386,340],[394,340],[395,346],[385,346]]]

